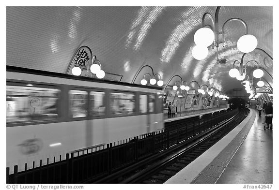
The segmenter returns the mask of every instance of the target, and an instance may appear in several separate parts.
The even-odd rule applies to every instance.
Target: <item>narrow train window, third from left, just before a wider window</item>
[[[105,116],[105,92],[90,92],[90,114],[93,117]]]

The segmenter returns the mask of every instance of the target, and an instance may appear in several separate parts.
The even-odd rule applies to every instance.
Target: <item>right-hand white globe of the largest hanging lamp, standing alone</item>
[[[251,34],[241,36],[237,41],[237,48],[243,53],[253,51],[258,45],[258,40]]]

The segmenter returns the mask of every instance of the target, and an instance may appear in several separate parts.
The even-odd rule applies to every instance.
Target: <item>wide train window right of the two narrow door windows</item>
[[[110,112],[112,115],[135,113],[135,94],[131,92],[111,92]]]

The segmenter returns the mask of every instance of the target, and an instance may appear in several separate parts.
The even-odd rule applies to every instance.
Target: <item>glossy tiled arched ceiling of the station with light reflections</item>
[[[225,47],[209,48],[204,60],[196,60],[191,51],[193,36],[202,27],[202,15],[215,15],[217,7],[7,7],[7,65],[66,73],[78,47],[88,46],[102,63],[105,72],[123,75],[131,83],[143,65],[150,65],[164,83],[180,75],[184,81],[223,92],[243,88],[229,77],[233,61],[243,53],[236,42],[245,34],[237,21],[225,27]],[[257,48],[272,53],[272,7],[221,7],[219,30],[224,22],[238,17],[248,25],[248,33],[258,39]],[[209,17],[205,24],[212,24]],[[264,80],[272,86],[272,59],[260,50],[245,55],[243,62],[256,60],[264,68]],[[235,64],[238,67],[238,63]],[[247,72],[256,67],[251,62]],[[144,68],[135,79],[140,80]],[[267,74],[268,72],[269,74]],[[180,80],[174,78],[170,85]]]

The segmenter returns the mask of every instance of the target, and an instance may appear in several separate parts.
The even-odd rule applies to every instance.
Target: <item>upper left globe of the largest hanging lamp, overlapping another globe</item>
[[[206,27],[198,29],[194,34],[195,44],[206,47],[213,43],[214,38],[214,32],[212,31],[212,29]]]

